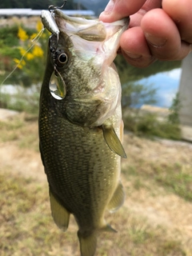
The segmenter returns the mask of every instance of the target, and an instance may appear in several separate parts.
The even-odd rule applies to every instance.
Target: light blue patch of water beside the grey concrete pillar
[[[149,78],[143,78],[139,81],[142,84],[153,85],[157,89],[156,103],[154,106],[169,108],[172,104],[175,94],[178,92],[179,81],[182,69],[174,69],[167,72],[151,75]]]

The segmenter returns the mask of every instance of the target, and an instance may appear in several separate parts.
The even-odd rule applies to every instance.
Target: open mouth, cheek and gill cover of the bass
[[[70,51],[69,70],[76,75],[72,84],[67,69],[61,70],[63,80],[67,81],[66,116],[82,126],[101,126],[121,104],[121,84],[112,63],[130,18],[105,23],[68,17],[61,10],[54,13],[60,31],[58,47]],[[79,79],[82,81],[78,82]]]

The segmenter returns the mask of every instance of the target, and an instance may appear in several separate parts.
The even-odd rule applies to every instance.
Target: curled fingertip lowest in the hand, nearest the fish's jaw
[[[141,27],[133,27],[126,30],[120,38],[122,55],[133,66],[149,66],[155,61],[150,54],[149,46]]]

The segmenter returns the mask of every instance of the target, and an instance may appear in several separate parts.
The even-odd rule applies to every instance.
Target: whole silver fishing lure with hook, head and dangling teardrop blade
[[[54,19],[54,11],[57,9],[62,9],[65,6],[66,0],[63,2],[62,6],[49,6],[49,10],[42,10],[42,24],[44,27],[50,31],[52,34],[49,39],[50,54],[53,60],[54,72],[50,77],[49,87],[50,94],[61,100],[66,97],[66,83],[64,82],[62,75],[58,71],[58,67],[62,67],[68,61],[67,55],[58,49],[58,38],[59,38],[59,29],[57,23]]]

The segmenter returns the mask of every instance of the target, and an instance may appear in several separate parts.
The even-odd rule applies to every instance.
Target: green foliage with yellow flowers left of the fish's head
[[[14,70],[17,64],[18,68],[10,75],[7,82],[31,86],[42,81],[49,32],[44,30],[38,42],[37,40],[36,43],[32,42],[38,33],[41,33],[41,30],[42,22],[40,20],[34,30],[23,26],[6,26],[0,29],[0,57],[2,60],[0,70],[4,72],[0,77],[0,82]]]

